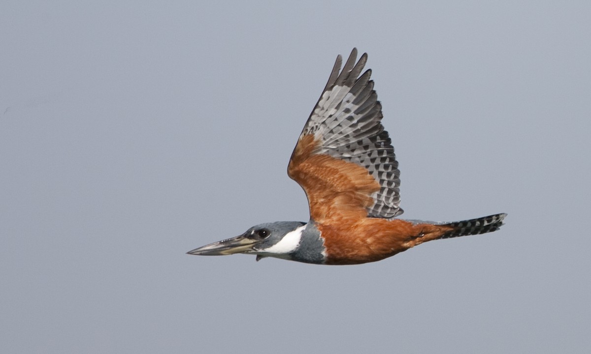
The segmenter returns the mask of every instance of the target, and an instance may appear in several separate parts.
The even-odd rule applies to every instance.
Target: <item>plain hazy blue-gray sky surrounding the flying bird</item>
[[[0,352],[591,352],[590,2],[198,3],[0,5]],[[288,158],[352,47],[402,217],[506,225],[361,266],[186,255],[307,221]]]

